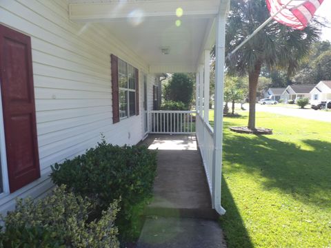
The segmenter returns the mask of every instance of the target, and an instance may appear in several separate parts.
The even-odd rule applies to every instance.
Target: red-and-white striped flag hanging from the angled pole
[[[292,28],[303,30],[324,0],[266,0],[273,18]],[[277,14],[278,12],[278,14]]]

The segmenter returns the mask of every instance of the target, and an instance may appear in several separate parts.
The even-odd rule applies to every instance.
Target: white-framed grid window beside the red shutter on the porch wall
[[[119,59],[119,118],[136,114],[136,76],[134,67]]]

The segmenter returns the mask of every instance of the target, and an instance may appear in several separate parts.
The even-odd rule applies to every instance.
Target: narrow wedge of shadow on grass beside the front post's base
[[[222,176],[222,205],[226,209],[226,214],[220,217],[221,227],[225,234],[225,240],[228,247],[245,247],[252,248],[250,236],[245,229],[243,220],[236,203]]]

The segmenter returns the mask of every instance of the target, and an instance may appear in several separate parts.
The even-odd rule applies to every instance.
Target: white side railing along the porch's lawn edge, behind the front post
[[[197,114],[197,141],[205,168],[205,174],[208,180],[210,194],[212,195],[212,177],[213,177],[213,154],[214,154],[214,129],[209,123],[205,123],[201,116]]]

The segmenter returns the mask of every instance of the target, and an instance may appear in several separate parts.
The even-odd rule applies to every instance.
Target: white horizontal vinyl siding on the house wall
[[[102,25],[69,21],[66,0],[0,1],[0,17],[1,24],[31,37],[41,167],[34,183],[0,195],[0,213],[6,213],[15,197],[48,192],[50,165],[94,147],[101,133],[117,145],[141,140],[142,115],[112,125],[110,54],[139,68],[139,75],[148,72],[148,65]],[[149,74],[149,92],[153,83]]]

